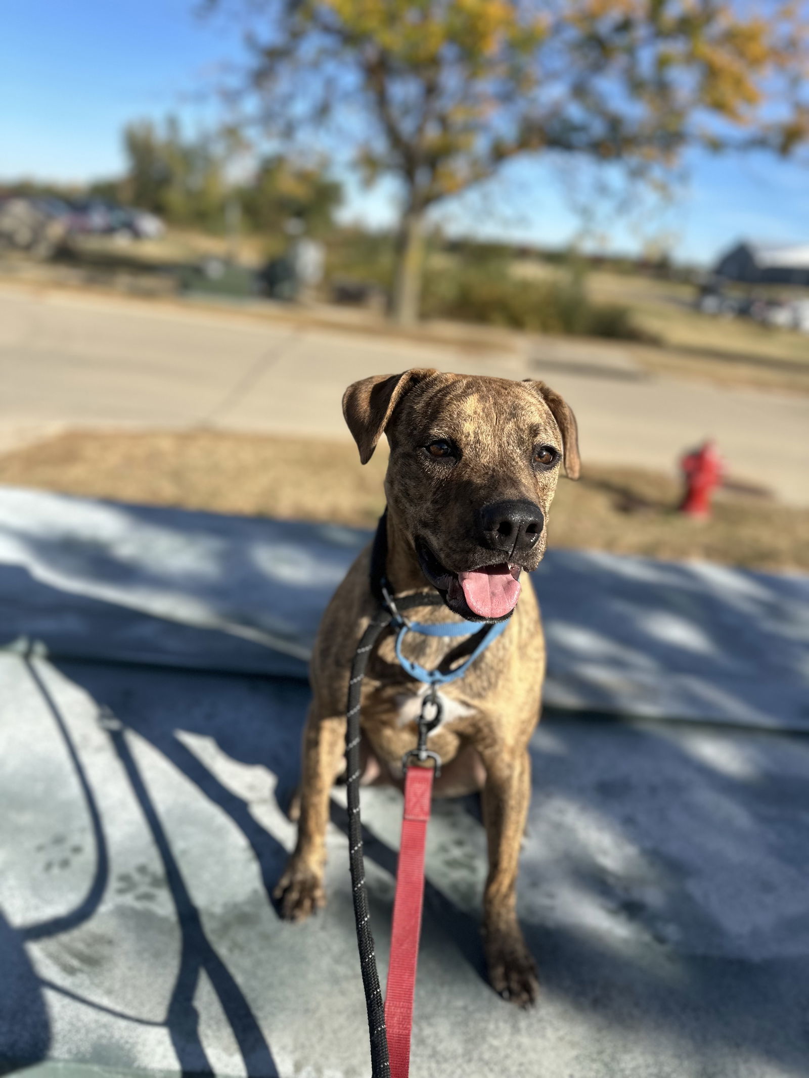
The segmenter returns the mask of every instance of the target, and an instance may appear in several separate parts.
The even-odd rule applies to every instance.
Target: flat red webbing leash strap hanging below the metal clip
[[[396,869],[385,1026],[390,1078],[410,1074],[410,1036],[424,902],[424,849],[433,799],[433,768],[412,765],[404,775],[404,815]]]

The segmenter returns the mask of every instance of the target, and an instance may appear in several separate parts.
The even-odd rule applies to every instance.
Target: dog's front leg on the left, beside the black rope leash
[[[340,773],[345,745],[345,716],[323,717],[310,706],[303,735],[298,843],[275,888],[282,916],[303,921],[326,904],[323,888],[329,793]]]

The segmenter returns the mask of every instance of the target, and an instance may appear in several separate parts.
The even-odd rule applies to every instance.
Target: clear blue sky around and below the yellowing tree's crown
[[[0,31],[0,178],[84,180],[123,165],[120,132],[134,118],[179,113],[189,127],[215,115],[211,86],[237,61],[239,36],[200,19],[194,0],[4,0]],[[688,163],[676,203],[641,229],[608,221],[611,247],[671,236],[681,259],[710,262],[732,240],[809,241],[809,171],[764,155]],[[579,227],[552,164],[518,162],[488,190],[441,211],[455,233],[563,244]],[[390,184],[365,191],[348,178],[344,215],[390,221]],[[604,224],[602,220],[601,224]]]

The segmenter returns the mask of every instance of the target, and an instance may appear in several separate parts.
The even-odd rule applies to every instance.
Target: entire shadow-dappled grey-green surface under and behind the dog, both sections
[[[288,925],[270,897],[302,657],[365,538],[0,490],[0,1073],[367,1078],[340,789],[328,908]],[[803,1078],[807,581],[544,566],[551,692],[636,714],[550,709],[533,738],[531,1011],[483,977],[477,804],[436,805],[413,1078]],[[655,685],[676,721],[637,717]],[[400,796],[362,813],[384,981]]]

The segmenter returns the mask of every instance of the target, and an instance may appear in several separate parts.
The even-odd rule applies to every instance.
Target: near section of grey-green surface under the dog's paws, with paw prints
[[[327,910],[270,899],[303,683],[6,655],[0,690],[2,1070],[367,1076],[339,796]],[[413,1078],[805,1075],[809,743],[548,715],[532,755],[540,999],[486,986],[484,833],[440,803]],[[362,800],[384,979],[400,798]]]

